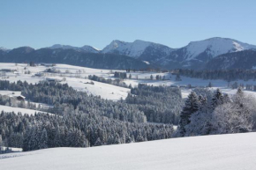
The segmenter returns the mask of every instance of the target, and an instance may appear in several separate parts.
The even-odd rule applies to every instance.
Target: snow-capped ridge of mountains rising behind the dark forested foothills
[[[26,47],[27,53],[34,48]],[[236,53],[239,51],[256,49],[242,41],[230,38],[213,37],[203,41],[191,41],[182,48],[169,48],[168,46],[150,41],[136,40],[133,42],[114,40],[102,50],[92,46],[73,47],[70,45],[55,44],[50,49],[72,49],[82,53],[126,55],[136,60],[157,65],[162,69],[204,69],[205,65],[216,56]],[[19,48],[6,50],[0,48],[1,53],[17,51]],[[35,50],[35,49],[34,49]]]

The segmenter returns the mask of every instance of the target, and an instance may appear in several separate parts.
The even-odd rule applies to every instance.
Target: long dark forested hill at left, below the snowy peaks
[[[144,69],[150,67],[138,59],[116,54],[85,53],[64,48],[14,48],[9,52],[0,50],[2,63],[66,63],[96,69]]]

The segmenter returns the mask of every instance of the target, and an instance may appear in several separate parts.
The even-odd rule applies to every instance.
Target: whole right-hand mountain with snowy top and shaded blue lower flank
[[[156,63],[167,69],[197,70],[203,69],[205,64],[216,56],[252,48],[256,48],[256,46],[233,39],[215,37],[204,41],[192,41],[184,48],[177,48],[170,55],[159,58]]]

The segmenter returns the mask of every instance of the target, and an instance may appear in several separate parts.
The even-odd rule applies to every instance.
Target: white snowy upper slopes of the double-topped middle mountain
[[[162,52],[164,52],[166,55],[169,55],[169,53],[173,51],[172,48],[168,48],[162,44],[157,44],[154,42],[139,40],[133,42],[124,42],[116,40],[112,41],[108,46],[106,46],[106,48],[103,48],[102,53],[117,53],[120,55],[128,55],[138,58],[148,47],[156,48],[157,50],[162,47]]]

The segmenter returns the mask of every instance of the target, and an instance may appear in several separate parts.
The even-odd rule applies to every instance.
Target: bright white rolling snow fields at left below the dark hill
[[[130,92],[130,89],[119,87],[115,85],[108,85],[100,82],[94,82],[94,85],[87,84],[91,82],[91,80],[87,79],[89,75],[96,75],[103,78],[109,78],[111,71],[116,70],[100,70],[100,69],[91,69],[86,67],[79,67],[79,66],[73,66],[73,65],[67,65],[67,64],[56,64],[53,68],[56,70],[60,70],[62,73],[59,74],[46,74],[45,77],[35,77],[34,74],[41,72],[43,70],[49,69],[49,67],[46,66],[37,66],[37,67],[29,67],[27,64],[24,63],[18,63],[15,65],[15,63],[0,63],[1,69],[15,69],[17,70],[17,73],[7,73],[7,76],[9,78],[4,78],[4,80],[9,80],[11,82],[16,82],[18,80],[26,81],[28,83],[38,83],[39,81],[45,80],[47,78],[56,78],[56,79],[63,79],[66,78],[66,81],[63,83],[67,83],[68,85],[72,86],[74,89],[87,92],[89,94],[93,94],[95,96],[101,96],[103,99],[107,100],[120,100],[121,98],[125,99],[128,95],[128,92]],[[25,74],[24,68],[26,70],[30,70],[31,74]],[[68,70],[69,73],[65,73],[65,71]],[[122,71],[122,70],[117,70]],[[74,78],[76,74],[79,73],[79,78]],[[3,78],[0,78],[3,79]],[[0,94],[6,94],[11,92],[1,92]]]

